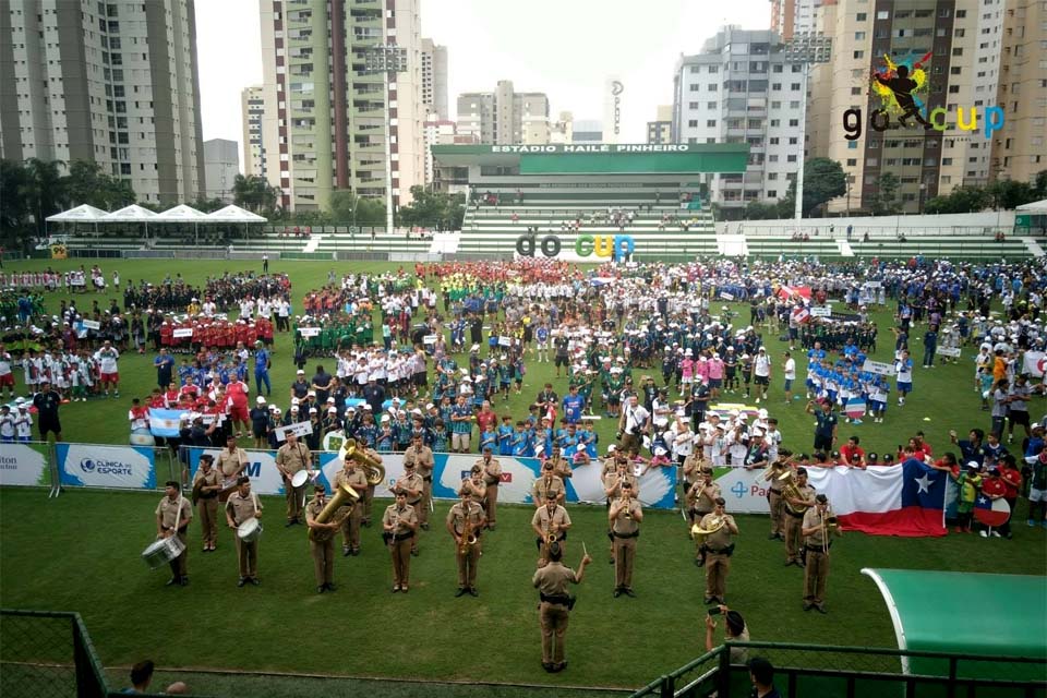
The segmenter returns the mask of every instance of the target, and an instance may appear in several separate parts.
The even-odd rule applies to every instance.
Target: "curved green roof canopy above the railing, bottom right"
[[[871,569],[903,650],[983,655],[964,660],[959,676],[1043,679],[1043,664],[999,658],[1047,658],[1047,577],[919,569]],[[948,662],[903,658],[912,674],[948,675]]]

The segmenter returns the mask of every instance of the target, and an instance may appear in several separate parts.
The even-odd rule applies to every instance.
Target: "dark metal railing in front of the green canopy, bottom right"
[[[742,698],[751,683],[731,650],[774,666],[783,698],[1044,698],[1047,658],[1000,658],[889,648],[731,642],[660,676],[633,698]]]

